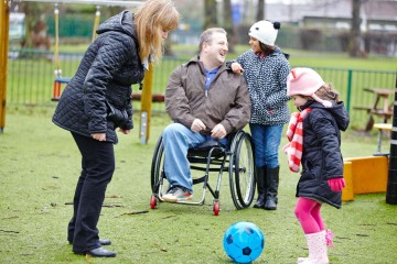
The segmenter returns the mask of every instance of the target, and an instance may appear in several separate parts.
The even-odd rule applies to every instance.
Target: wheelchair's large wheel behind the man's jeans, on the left
[[[150,183],[153,194],[159,193],[160,179],[162,179],[164,168],[164,145],[162,136],[159,138],[153,153],[152,165],[150,170]]]

